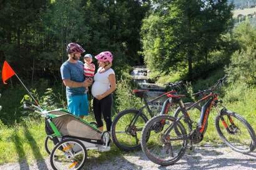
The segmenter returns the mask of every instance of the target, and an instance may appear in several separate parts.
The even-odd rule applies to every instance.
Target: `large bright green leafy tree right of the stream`
[[[152,15],[160,18],[159,25],[162,25],[162,28],[159,29],[161,33],[156,35],[155,39],[152,38],[153,42],[159,41],[159,46],[154,46],[154,51],[159,51],[162,57],[160,60],[145,57],[146,63],[154,60],[156,67],[152,65],[149,67],[153,70],[160,68],[163,72],[169,71],[167,68],[170,66],[170,69],[177,69],[187,65],[188,75],[192,78],[194,61],[204,59],[199,55],[202,54],[201,51],[204,50],[205,62],[207,62],[207,54],[217,45],[220,35],[229,30],[232,6],[227,4],[226,0],[175,0],[168,1],[169,3],[158,0],[156,2],[157,7]],[[147,27],[142,26],[142,43],[147,52],[153,49],[145,39],[154,24],[152,22]]]

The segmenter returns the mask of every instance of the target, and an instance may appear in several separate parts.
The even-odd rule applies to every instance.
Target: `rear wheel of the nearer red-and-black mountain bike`
[[[184,126],[169,115],[159,115],[150,119],[142,130],[141,147],[147,158],[155,164],[170,165],[179,161],[185,154],[188,139]],[[176,123],[180,136],[174,128],[169,134],[164,131]]]

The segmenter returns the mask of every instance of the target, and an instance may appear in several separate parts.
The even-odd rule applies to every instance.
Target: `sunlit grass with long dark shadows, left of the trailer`
[[[2,127],[0,130],[0,164],[13,163],[26,159],[43,159],[47,156],[44,151],[44,124],[38,122],[27,125],[16,125],[12,128]]]

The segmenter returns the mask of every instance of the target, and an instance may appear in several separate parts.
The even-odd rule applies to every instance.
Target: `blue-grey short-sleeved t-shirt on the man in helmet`
[[[81,61],[77,61],[76,64],[69,61],[64,62],[61,65],[61,78],[62,80],[69,79],[74,82],[84,82],[84,64]],[[85,92],[85,87],[66,87],[67,98],[74,95],[83,95]]]

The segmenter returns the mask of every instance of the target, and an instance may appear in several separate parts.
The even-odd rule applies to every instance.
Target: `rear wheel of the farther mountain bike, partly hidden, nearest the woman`
[[[114,144],[119,149],[131,151],[140,148],[140,134],[147,122],[147,117],[142,113],[135,120],[134,126],[130,125],[139,110],[124,110],[117,114],[111,126],[111,135]]]

